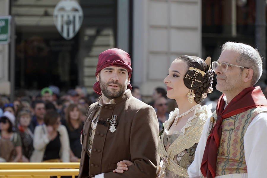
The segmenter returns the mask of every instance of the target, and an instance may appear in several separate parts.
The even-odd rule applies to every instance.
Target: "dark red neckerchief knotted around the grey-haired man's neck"
[[[222,94],[220,96],[217,103],[217,120],[207,139],[200,167],[203,176],[207,178],[215,177],[217,151],[222,136],[222,120],[247,111],[248,109],[256,107],[267,107],[267,100],[260,87],[245,88],[236,97],[234,97],[226,107],[223,96],[225,96],[225,94]]]

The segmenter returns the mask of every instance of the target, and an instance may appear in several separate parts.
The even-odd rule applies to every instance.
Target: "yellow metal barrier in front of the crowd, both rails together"
[[[79,163],[0,163],[0,178],[50,178],[79,174]]]

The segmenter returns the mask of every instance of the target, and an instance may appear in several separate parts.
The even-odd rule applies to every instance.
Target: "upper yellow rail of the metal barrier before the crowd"
[[[0,163],[0,169],[79,169],[80,163]]]

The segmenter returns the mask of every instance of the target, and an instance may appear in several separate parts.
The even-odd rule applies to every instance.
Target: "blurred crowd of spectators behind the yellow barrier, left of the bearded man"
[[[0,162],[79,162],[80,132],[89,105],[81,87],[61,93],[56,86],[37,96],[0,98]]]

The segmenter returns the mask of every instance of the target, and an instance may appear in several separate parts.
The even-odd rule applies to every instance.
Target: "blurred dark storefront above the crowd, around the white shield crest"
[[[57,20],[53,19],[57,18],[55,7],[59,2],[13,0],[11,15],[15,19],[17,36],[15,89],[41,89],[48,85],[56,85],[62,90],[76,85],[89,87],[98,54],[115,47],[117,1],[77,1],[82,8],[83,20],[77,34],[70,39],[60,34],[56,28]],[[67,6],[72,4],[62,2],[66,7],[61,10],[67,12]],[[71,8],[69,11],[77,11],[75,7]],[[74,26],[75,19],[69,15],[67,18],[61,25],[69,23],[68,26]]]

